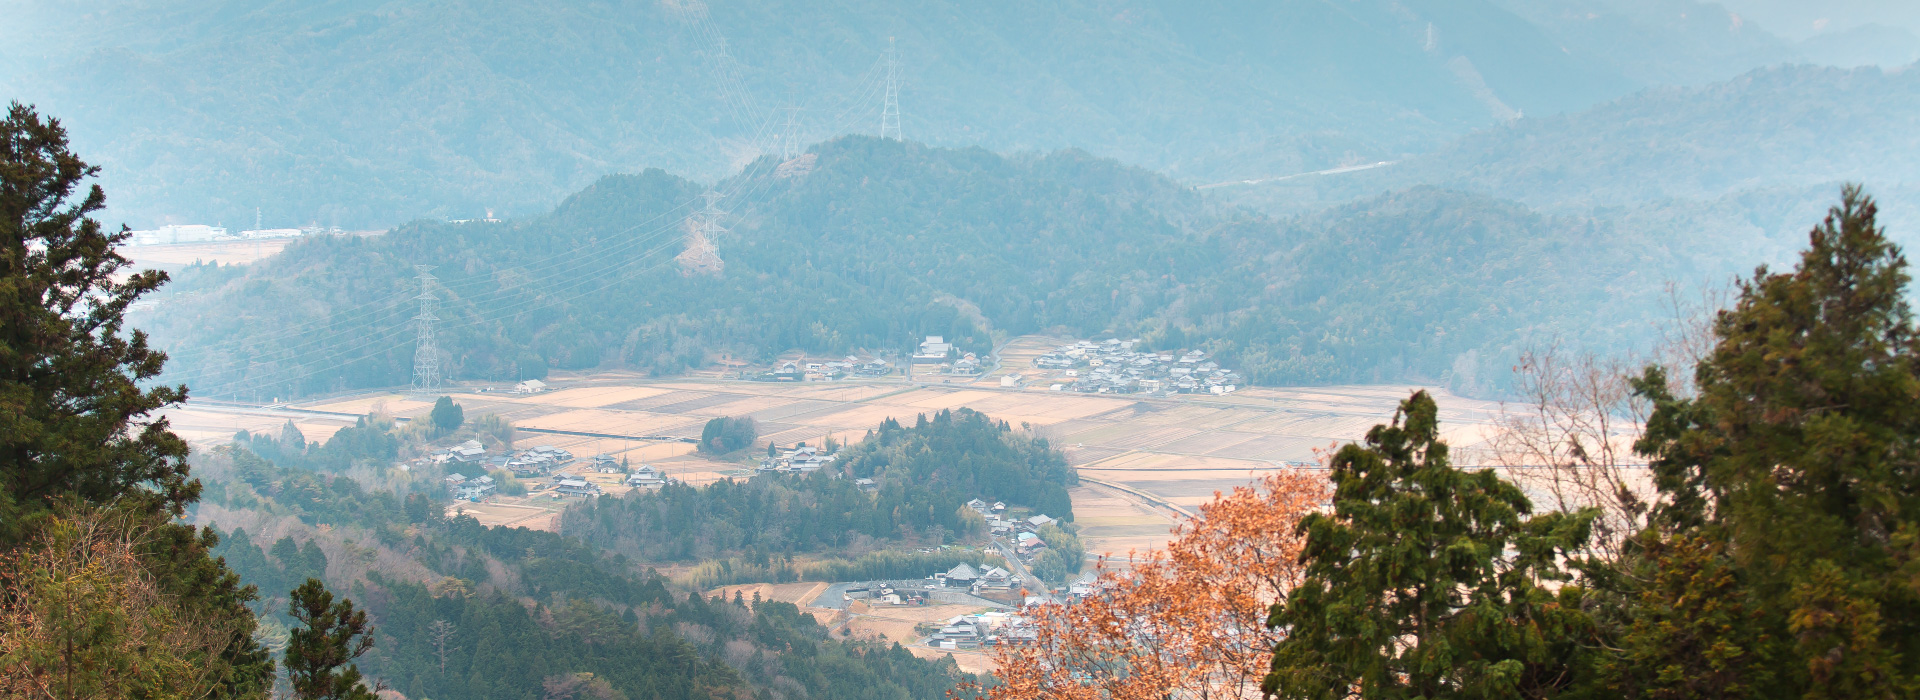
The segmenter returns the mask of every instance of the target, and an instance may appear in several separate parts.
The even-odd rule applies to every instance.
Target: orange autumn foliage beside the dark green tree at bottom
[[[1027,612],[1037,641],[998,646],[989,700],[1258,698],[1279,633],[1267,608],[1302,573],[1294,525],[1325,506],[1327,479],[1279,472],[1213,495],[1165,552],[1100,566],[1081,602]],[[1131,556],[1129,556],[1131,558]]]

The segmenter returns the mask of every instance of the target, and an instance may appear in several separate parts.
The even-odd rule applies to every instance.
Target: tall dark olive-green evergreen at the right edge
[[[1907,259],[1876,209],[1847,188],[1791,272],[1740,284],[1695,397],[1670,395],[1655,370],[1640,380],[1655,412],[1638,449],[1663,493],[1644,566],[1686,585],[1644,591],[1647,619],[1665,623],[1624,637],[1638,656],[1622,685],[1920,690],[1920,334]]]

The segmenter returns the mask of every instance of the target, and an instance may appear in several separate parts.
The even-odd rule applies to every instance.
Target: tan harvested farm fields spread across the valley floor
[[[520,428],[520,447],[555,445],[576,455],[624,455],[664,468],[674,478],[705,483],[739,472],[741,462],[697,455],[693,445],[645,437],[697,437],[716,416],[753,416],[758,447],[820,443],[833,435],[858,441],[885,418],[912,422],[943,408],[973,408],[1033,430],[1060,447],[1079,470],[1075,514],[1089,552],[1125,556],[1160,548],[1181,512],[1192,512],[1215,491],[1246,485],[1286,462],[1313,462],[1315,449],[1365,435],[1392,416],[1413,385],[1250,387],[1231,395],[1135,399],[1046,391],[1044,382],[1002,389],[998,376],[1037,374],[1018,339],[1002,351],[998,368],[952,384],[843,380],[804,384],[726,382],[703,378],[649,380],[632,374],[555,376],[553,389],[534,395],[480,393],[478,385],[447,389],[467,416],[499,414]],[[925,380],[925,376],[918,376]],[[1446,437],[1457,455],[1484,441],[1498,405],[1434,391]],[[292,418],[307,439],[321,441],[351,422],[334,414],[384,410],[424,416],[432,397],[367,393],[303,403],[317,412],[232,412],[190,405],[169,412],[177,432],[200,445],[232,437],[236,430],[278,430]],[[324,414],[323,414],[324,412]],[[624,489],[612,487],[611,493]],[[503,514],[505,516],[505,514]],[[505,520],[505,518],[503,518]],[[528,518],[532,520],[532,518]]]

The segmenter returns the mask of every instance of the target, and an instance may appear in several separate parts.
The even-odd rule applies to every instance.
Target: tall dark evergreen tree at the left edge
[[[115,245],[90,213],[106,205],[96,167],[67,148],[58,119],[13,104],[0,121],[0,548],[46,537],[60,508],[111,510],[144,529],[142,575],[217,644],[204,667],[223,667],[215,698],[265,692],[273,658],[253,639],[253,587],[209,556],[211,529],[171,522],[200,497],[186,443],[154,412],[186,399],[184,387],[142,382],[165,355],[125,328],[127,309],[165,272],[125,274]],[[19,579],[0,572],[0,595]]]

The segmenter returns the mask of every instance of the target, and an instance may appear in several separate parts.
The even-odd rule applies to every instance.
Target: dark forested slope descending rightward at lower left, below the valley
[[[263,591],[267,627],[290,627],[276,616],[284,610],[276,591],[292,583],[321,577],[349,587],[378,619],[378,642],[359,665],[409,698],[778,690],[916,700],[972,679],[950,660],[918,660],[899,644],[833,641],[787,602],[703,600],[578,539],[449,520],[440,485],[407,483],[403,472],[382,472],[397,478],[392,489],[363,487],[221,449],[196,474],[211,485],[196,520],[280,531],[298,524],[303,541],[282,535],[271,545],[228,524],[213,548]],[[275,642],[275,635],[265,637]]]

